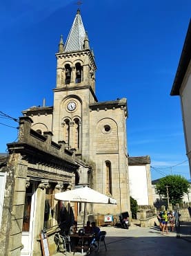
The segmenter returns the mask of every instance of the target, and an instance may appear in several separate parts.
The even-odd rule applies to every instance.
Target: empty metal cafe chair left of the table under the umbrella
[[[54,241],[57,244],[57,253],[66,253],[67,250],[71,253],[70,237],[68,235],[62,236],[59,233],[56,233]]]

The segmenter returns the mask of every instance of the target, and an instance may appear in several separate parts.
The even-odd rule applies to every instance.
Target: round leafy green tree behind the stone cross
[[[175,205],[181,203],[184,193],[188,193],[190,183],[181,175],[168,175],[156,184],[157,194],[167,198],[167,188],[169,201]]]

